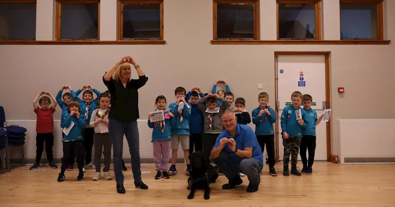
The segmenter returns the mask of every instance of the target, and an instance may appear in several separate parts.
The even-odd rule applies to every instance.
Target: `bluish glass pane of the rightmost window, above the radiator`
[[[377,4],[340,4],[341,39],[378,39]]]

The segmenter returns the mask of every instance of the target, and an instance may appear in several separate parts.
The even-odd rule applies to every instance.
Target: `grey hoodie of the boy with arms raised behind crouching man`
[[[206,97],[203,97],[198,101],[199,110],[203,114],[203,123],[204,123],[203,131],[205,133],[224,131],[224,127],[222,126],[222,114],[228,108],[229,102],[225,98],[218,99],[222,102],[222,105],[220,106],[220,111],[218,113],[213,113],[213,116],[211,117],[213,123],[211,124],[212,129],[210,130],[209,113],[206,112],[207,106],[204,105],[206,99],[207,99]]]

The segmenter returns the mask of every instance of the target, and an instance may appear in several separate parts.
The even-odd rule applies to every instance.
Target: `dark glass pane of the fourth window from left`
[[[254,39],[254,4],[217,4],[217,39]]]

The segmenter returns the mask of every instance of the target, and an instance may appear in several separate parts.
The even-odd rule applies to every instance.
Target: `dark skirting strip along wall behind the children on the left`
[[[61,164],[62,163],[61,159],[62,158],[54,158],[53,161],[56,164]],[[124,157],[123,160],[124,160],[124,162],[126,164],[131,164],[132,163],[130,157]],[[34,159],[34,158],[26,158],[25,161],[26,161],[26,164],[34,164],[34,162],[36,162],[36,159]],[[92,159],[92,161],[94,161],[94,160]],[[15,165],[15,164],[16,165],[22,165],[23,164],[23,160],[22,160],[22,158],[11,158],[9,160],[9,163],[13,164],[13,165]],[[101,163],[104,164],[104,159],[103,158],[102,158]],[[114,163],[114,160],[111,157],[111,164],[113,164],[113,163]],[[141,164],[154,164],[154,158],[140,158],[140,163]],[[171,163],[171,157],[170,157],[169,163]],[[184,158],[183,157],[182,158],[177,158],[176,163],[177,164],[185,164]],[[40,164],[48,164],[48,160],[43,158],[43,159],[41,159]]]

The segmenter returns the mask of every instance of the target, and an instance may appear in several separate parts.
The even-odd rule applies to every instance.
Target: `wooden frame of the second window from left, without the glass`
[[[60,22],[62,18],[62,4],[98,4],[98,39],[97,40],[61,40],[60,39]],[[56,0],[56,10],[55,10],[55,41],[68,41],[68,42],[75,42],[75,41],[100,41],[100,0]]]

